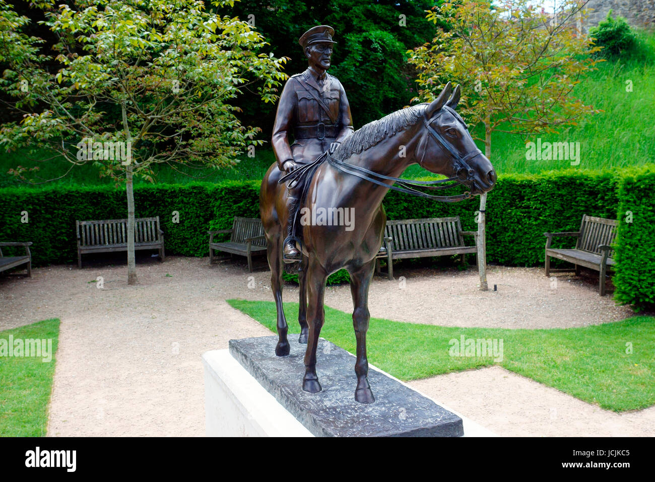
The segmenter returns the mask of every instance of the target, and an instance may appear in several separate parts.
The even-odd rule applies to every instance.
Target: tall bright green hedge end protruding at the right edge
[[[614,297],[637,309],[655,306],[655,169],[624,178],[619,190]]]

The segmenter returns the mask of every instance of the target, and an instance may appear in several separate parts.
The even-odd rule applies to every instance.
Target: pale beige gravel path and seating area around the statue
[[[475,270],[400,268],[395,274],[396,281],[375,277],[371,316],[545,328],[632,315],[609,296],[600,298],[593,279],[557,275],[554,286],[537,268],[490,267],[496,292],[476,289]],[[0,278],[0,330],[62,321],[48,435],[204,435],[200,355],[227,348],[231,338],[270,334],[225,302],[272,300],[265,268],[248,273],[240,260],[210,267],[207,258],[138,258],[138,276],[139,285],[127,287],[124,265],[91,264],[37,268],[31,279]],[[96,277],[103,277],[103,289]],[[285,300],[297,296],[297,287],[285,287]],[[349,288],[327,289],[326,304],[352,310]],[[499,367],[411,384],[500,435],[655,434],[655,408],[614,414]]]

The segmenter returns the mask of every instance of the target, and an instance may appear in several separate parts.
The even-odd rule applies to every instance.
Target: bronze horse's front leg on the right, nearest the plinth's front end
[[[355,374],[357,375],[357,388],[355,400],[359,403],[373,403],[375,397],[368,382],[368,359],[366,357],[366,331],[368,330],[371,315],[368,310],[368,291],[375,260],[365,264],[357,271],[350,273],[350,294],[352,294],[352,325],[357,340],[357,361]]]

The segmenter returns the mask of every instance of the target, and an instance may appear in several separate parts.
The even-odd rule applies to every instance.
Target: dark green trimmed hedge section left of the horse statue
[[[6,188],[0,197],[0,239],[33,241],[35,266],[77,260],[76,220],[127,217],[125,191],[112,186]],[[134,205],[138,218],[159,216],[166,252],[206,256],[208,230],[231,228],[234,216],[259,217],[259,182],[136,186]],[[28,223],[21,222],[23,211]]]

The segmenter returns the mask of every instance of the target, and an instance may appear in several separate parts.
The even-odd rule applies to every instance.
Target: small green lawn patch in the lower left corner
[[[43,437],[48,424],[54,354],[59,339],[59,320],[48,319],[0,332],[0,340],[50,339],[52,359],[0,356],[0,436]],[[2,342],[0,341],[0,345]]]

